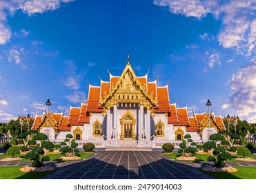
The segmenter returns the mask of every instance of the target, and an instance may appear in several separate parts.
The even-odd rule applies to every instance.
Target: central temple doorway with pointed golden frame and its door
[[[136,133],[135,133],[135,123],[136,119],[135,117],[130,113],[128,110],[126,114],[124,114],[121,119],[121,136],[120,139],[136,139]]]

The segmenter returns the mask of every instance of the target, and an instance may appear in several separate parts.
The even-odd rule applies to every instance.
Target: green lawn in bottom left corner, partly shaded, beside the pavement
[[[1,166],[0,179],[41,179],[52,172],[20,172],[20,166]]]

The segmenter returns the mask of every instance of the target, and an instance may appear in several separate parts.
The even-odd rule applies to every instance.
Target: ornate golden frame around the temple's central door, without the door
[[[126,120],[127,116],[130,116],[130,118],[132,120]],[[120,123],[121,123],[121,136],[120,136],[120,139],[124,140],[124,124],[131,124],[132,125],[132,140],[135,140],[136,139],[136,133],[135,133],[136,119],[135,119],[135,116],[133,116],[130,113],[130,111],[127,110],[127,112],[121,117]]]

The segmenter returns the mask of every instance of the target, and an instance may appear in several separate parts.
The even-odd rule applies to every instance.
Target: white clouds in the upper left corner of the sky
[[[61,3],[69,3],[75,0],[1,0],[0,1],[0,44],[10,41],[12,32],[8,26],[8,16],[14,15],[17,10],[31,16],[35,13],[43,13],[48,10],[56,10]],[[26,30],[21,30],[23,36],[28,35]]]

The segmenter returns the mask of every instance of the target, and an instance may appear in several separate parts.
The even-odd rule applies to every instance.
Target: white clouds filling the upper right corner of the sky
[[[186,17],[201,19],[207,13],[221,19],[222,26],[217,35],[224,48],[234,48],[237,52],[250,55],[255,52],[256,20],[255,0],[154,0],[156,6],[168,7],[170,12]],[[208,34],[200,36],[206,39]]]

